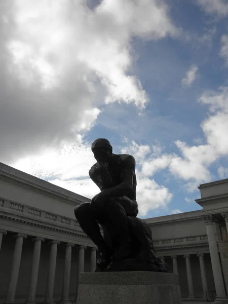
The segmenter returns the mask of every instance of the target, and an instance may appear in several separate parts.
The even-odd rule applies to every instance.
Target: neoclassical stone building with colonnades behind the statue
[[[182,298],[227,300],[228,179],[200,185],[202,210],[148,218]],[[75,302],[97,248],[73,209],[87,198],[0,163],[0,303]]]

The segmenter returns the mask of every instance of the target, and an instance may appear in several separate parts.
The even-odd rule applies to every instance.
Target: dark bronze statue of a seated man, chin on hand
[[[92,143],[92,152],[97,163],[89,175],[101,192],[91,202],[75,207],[74,214],[99,249],[98,271],[167,272],[168,265],[154,252],[150,227],[136,217],[134,157],[113,154],[104,138]]]

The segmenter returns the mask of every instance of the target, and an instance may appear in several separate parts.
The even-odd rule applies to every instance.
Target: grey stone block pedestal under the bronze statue
[[[81,273],[77,304],[181,304],[178,275],[151,271]]]

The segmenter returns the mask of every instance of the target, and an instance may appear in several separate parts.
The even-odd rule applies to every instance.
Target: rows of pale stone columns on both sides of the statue
[[[227,298],[224,288],[216,234],[215,234],[215,224],[212,219],[212,216],[207,215],[204,217],[204,221],[206,224],[207,229],[207,236],[208,236],[208,244],[209,244],[209,251],[210,251],[210,258],[212,264],[212,272],[214,277],[214,284],[216,290],[216,300],[224,300]],[[225,222],[226,227],[228,227],[228,214],[225,214]],[[6,231],[0,230],[0,250],[2,245],[3,235],[7,234]],[[17,288],[17,281],[19,275],[19,268],[20,268],[20,261],[21,261],[21,252],[23,247],[23,240],[27,238],[24,234],[16,234],[14,236],[16,238],[14,253],[13,253],[13,260],[12,260],[12,268],[10,274],[10,280],[6,295],[5,304],[12,304],[15,302],[15,293]],[[32,255],[32,264],[30,270],[30,278],[29,278],[29,286],[28,286],[28,293],[26,303],[34,304],[35,303],[35,295],[36,295],[36,285],[37,285],[37,278],[39,273],[39,263],[40,263],[40,254],[41,254],[41,245],[42,242],[45,241],[44,238],[34,237],[32,239],[34,242],[33,246],[33,255]],[[57,257],[57,246],[60,244],[58,240],[53,240],[49,242],[50,248],[50,257],[49,257],[49,269],[48,269],[48,280],[47,280],[47,288],[46,288],[46,295],[45,295],[45,303],[52,304],[54,303],[53,300],[53,293],[54,293],[54,285],[55,285],[55,270],[56,270],[56,257]],[[65,259],[64,259],[64,273],[63,273],[63,283],[62,283],[62,293],[61,293],[61,303],[68,303],[69,302],[69,286],[70,286],[70,269],[71,269],[71,250],[77,244],[65,243]],[[85,249],[86,246],[78,245],[79,248],[79,259],[78,259],[78,280],[79,282],[79,275],[81,272],[84,272],[84,260],[85,260]],[[91,248],[91,256],[90,256],[90,271],[94,272],[96,269],[96,250],[97,248]],[[205,263],[204,263],[204,254],[198,253],[197,254],[200,263],[200,272],[201,272],[201,279],[202,279],[202,286],[204,297],[206,292],[208,291],[207,286],[207,277],[205,271]],[[164,260],[164,257],[161,257]],[[173,263],[173,272],[178,274],[178,265],[177,265],[177,256],[171,256],[172,263]],[[185,264],[186,264],[186,275],[187,275],[187,284],[188,284],[188,298],[194,298],[194,288],[193,288],[193,277],[192,277],[192,269],[191,269],[191,254],[185,254]],[[77,298],[77,286],[75,286],[76,294],[75,298]]]

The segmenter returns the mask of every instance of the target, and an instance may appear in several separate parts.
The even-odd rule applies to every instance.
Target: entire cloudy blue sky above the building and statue
[[[228,0],[0,1],[0,162],[88,198],[91,143],[136,159],[141,218],[228,178]]]

